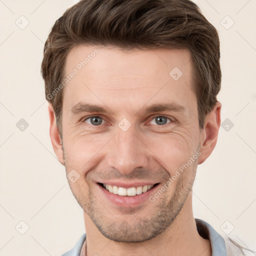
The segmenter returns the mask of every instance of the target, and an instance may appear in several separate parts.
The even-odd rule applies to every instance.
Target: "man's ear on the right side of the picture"
[[[221,104],[217,101],[210,113],[207,114],[204,121],[204,128],[200,131],[200,156],[198,164],[203,163],[213,151],[218,137],[220,126]]]

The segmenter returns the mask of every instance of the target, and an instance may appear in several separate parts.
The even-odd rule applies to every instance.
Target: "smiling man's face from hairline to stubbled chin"
[[[65,74],[78,70],[94,49],[73,48]],[[190,54],[97,49],[63,89],[64,165],[79,177],[68,182],[102,234],[143,241],[170,226],[194,180],[200,130]],[[182,164],[186,167],[178,175]],[[145,185],[154,186],[146,191]],[[140,193],[140,186],[146,192]],[[154,196],[159,189],[162,193]]]

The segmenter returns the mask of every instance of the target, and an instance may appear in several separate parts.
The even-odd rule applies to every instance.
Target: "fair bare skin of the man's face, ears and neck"
[[[48,107],[55,154],[67,174],[74,169],[80,175],[68,182],[84,211],[87,255],[211,255],[209,240],[196,229],[191,188],[197,164],[215,147],[221,104],[216,103],[199,129],[188,50],[96,48],[95,57],[63,88],[62,141],[52,105]],[[72,48],[65,74],[94,49]],[[183,73],[176,81],[169,75],[173,67]],[[72,113],[79,102],[106,112]],[[183,110],[146,110],[163,103]],[[92,115],[102,123],[93,125]],[[159,125],[157,116],[167,117],[166,123]],[[126,131],[118,126],[123,118],[131,124]],[[196,160],[153,202],[118,206],[96,184],[145,181],[162,187],[196,152]]]

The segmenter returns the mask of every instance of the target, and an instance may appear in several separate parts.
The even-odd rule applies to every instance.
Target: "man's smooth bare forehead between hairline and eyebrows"
[[[132,104],[137,100],[138,105],[149,100],[152,103],[157,100],[182,103],[185,98],[194,101],[191,69],[190,53],[186,49],[124,51],[116,47],[78,45],[66,58],[65,75],[75,75],[64,86],[63,105],[71,107],[92,98],[97,101],[93,103],[110,100],[115,106],[124,102],[130,106],[131,98]]]

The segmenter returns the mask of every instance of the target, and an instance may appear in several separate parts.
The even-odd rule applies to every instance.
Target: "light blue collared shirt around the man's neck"
[[[211,256],[246,256],[250,254],[247,253],[247,250],[237,243],[233,242],[228,238],[223,238],[218,234],[213,227],[207,222],[195,218],[197,231],[205,239],[210,240],[211,244]],[[84,233],[79,240],[76,242],[74,247],[62,254],[61,256],[80,256],[81,248],[83,242],[86,239],[86,233]]]

